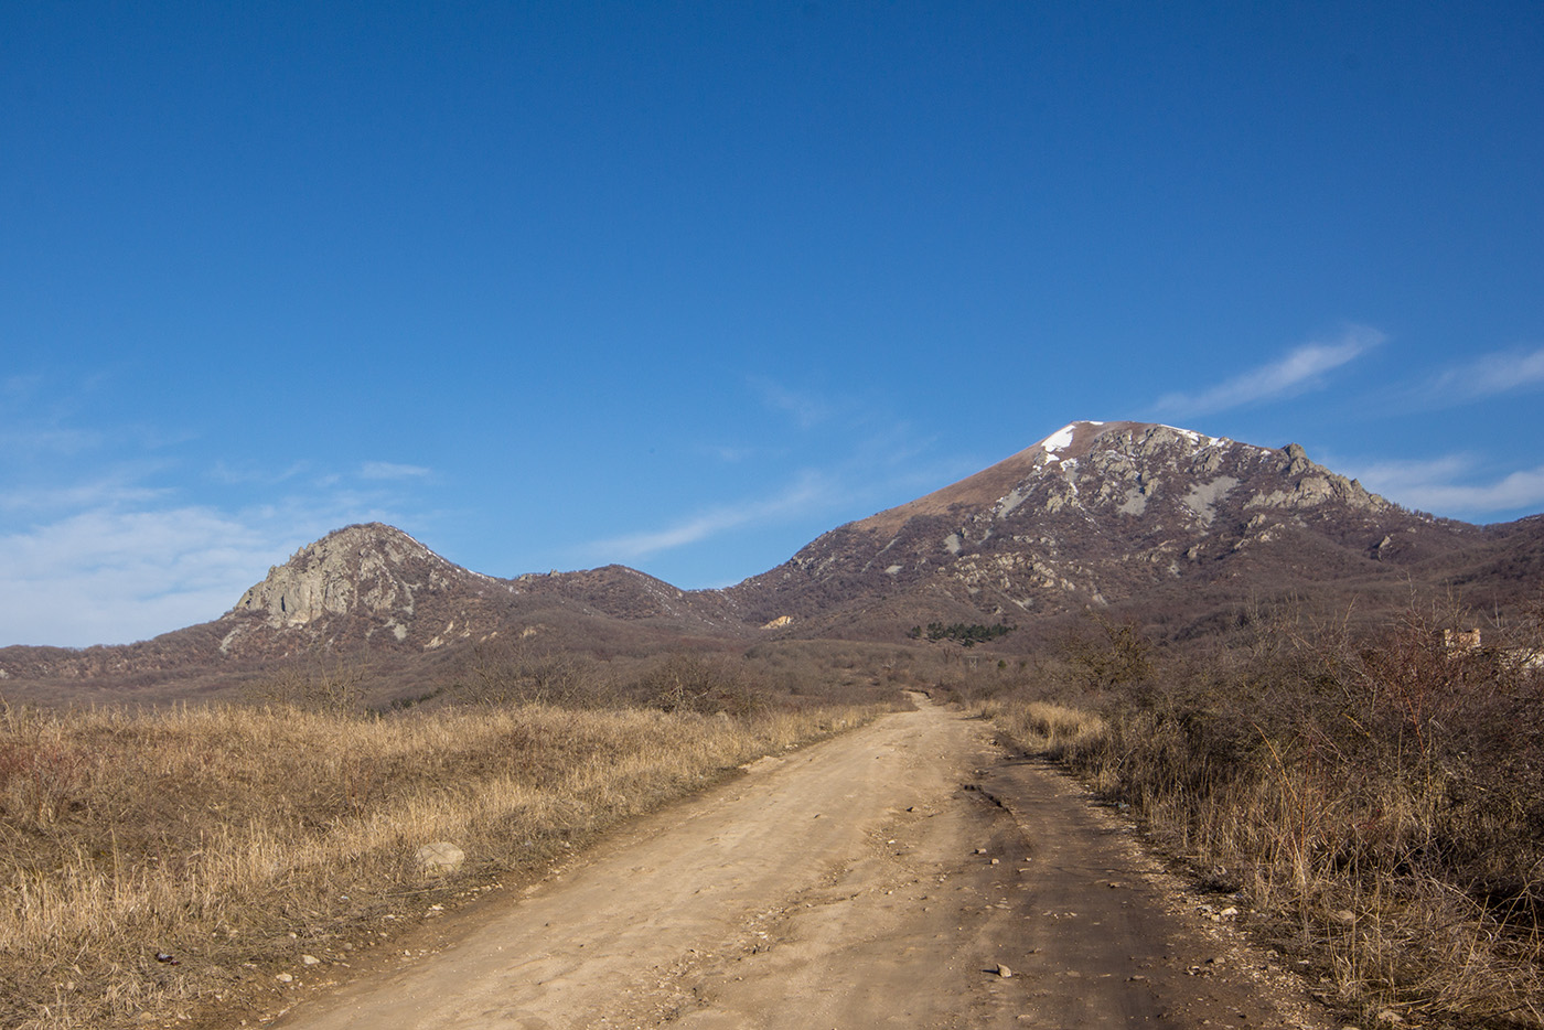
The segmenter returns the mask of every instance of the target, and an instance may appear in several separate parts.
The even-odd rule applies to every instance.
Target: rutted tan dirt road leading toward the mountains
[[[1303,1027],[1130,834],[919,710],[635,825],[287,1030]],[[1224,902],[1226,903],[1226,902]],[[1004,967],[1007,967],[1004,970]]]

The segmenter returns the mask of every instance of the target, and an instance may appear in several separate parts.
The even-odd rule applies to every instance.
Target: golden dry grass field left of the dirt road
[[[270,1004],[293,990],[278,973],[313,979],[457,885],[539,869],[868,715],[0,710],[0,1025],[154,1025]],[[449,883],[417,868],[437,840],[468,854]]]

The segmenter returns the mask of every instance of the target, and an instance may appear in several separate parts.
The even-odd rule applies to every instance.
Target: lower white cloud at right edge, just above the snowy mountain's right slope
[[[1544,508],[1544,465],[1471,482],[1475,465],[1468,456],[1447,454],[1414,462],[1348,463],[1345,468],[1373,493],[1439,516],[1484,519]]]

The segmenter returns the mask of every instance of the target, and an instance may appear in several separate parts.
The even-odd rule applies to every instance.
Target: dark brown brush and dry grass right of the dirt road
[[[1454,649],[1441,629],[1277,625],[1096,681],[1118,656],[1089,647],[1132,644],[1106,627],[1059,683],[974,704],[1248,897],[1346,1013],[1544,1027],[1544,678],[1527,647]],[[1067,703],[1079,676],[1096,710]]]

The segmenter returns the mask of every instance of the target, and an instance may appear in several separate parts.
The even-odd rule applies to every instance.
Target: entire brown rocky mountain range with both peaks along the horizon
[[[269,570],[212,622],[125,647],[0,649],[0,679],[137,683],[355,650],[400,664],[531,635],[591,653],[689,638],[902,639],[931,621],[1030,627],[1004,641],[1022,649],[1033,627],[1087,607],[1183,638],[1261,599],[1328,610],[1354,598],[1377,618],[1419,590],[1505,608],[1541,579],[1541,517],[1434,519],[1297,445],[1075,422],[727,590],[684,591],[621,565],[497,579],[401,530],[354,525]]]

